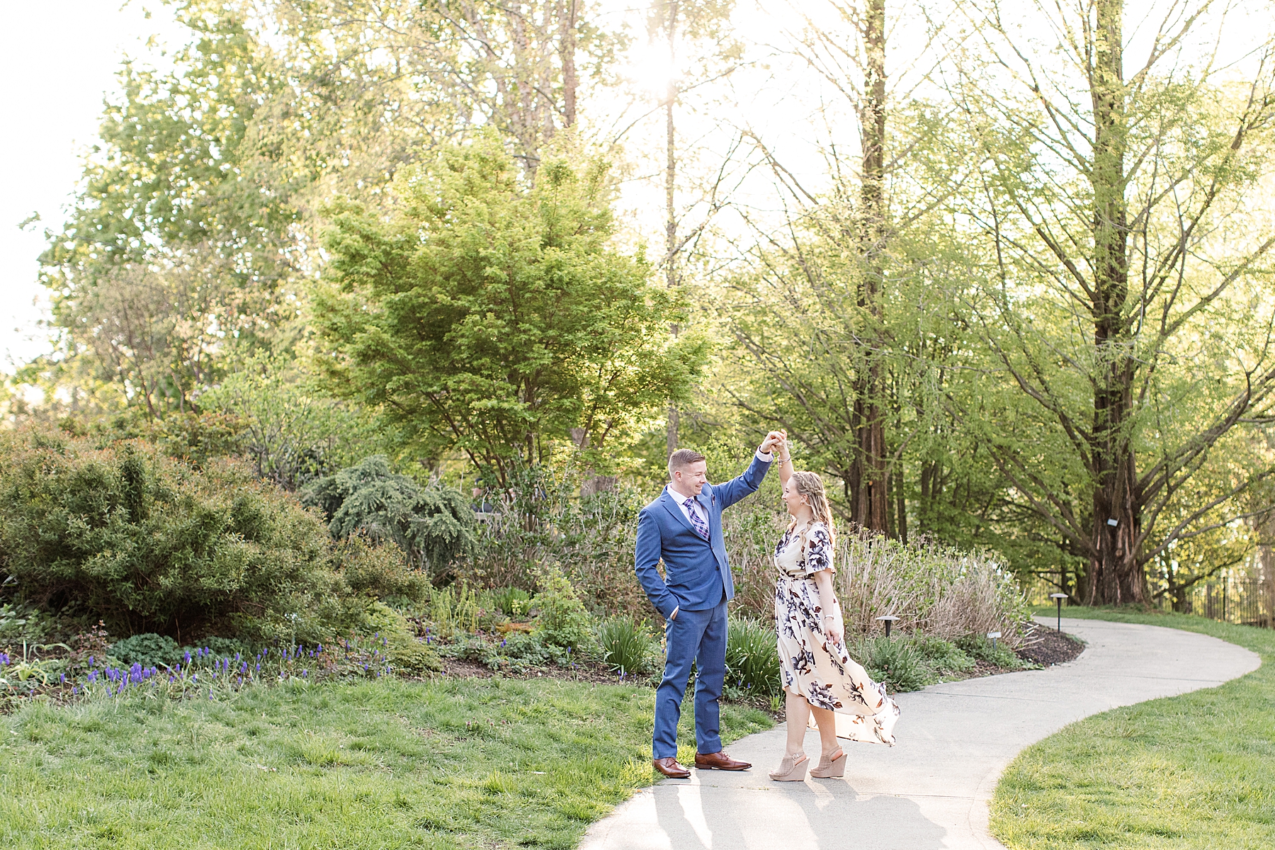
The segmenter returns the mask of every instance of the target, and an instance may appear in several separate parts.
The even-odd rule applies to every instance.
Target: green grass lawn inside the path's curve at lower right
[[[1063,616],[1211,635],[1260,654],[1262,666],[1219,688],[1088,717],[1029,747],[996,789],[993,835],[1015,850],[1275,846],[1275,631],[1181,614]]]

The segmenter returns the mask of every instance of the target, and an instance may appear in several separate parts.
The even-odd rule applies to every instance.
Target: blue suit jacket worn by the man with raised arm
[[[705,484],[696,501],[709,517],[709,539],[691,525],[668,487],[638,515],[635,571],[646,598],[668,619],[674,609],[704,610],[734,598],[734,577],[725,559],[722,511],[761,487],[770,464],[752,456],[748,469],[724,484]],[[664,561],[664,577],[655,565]]]

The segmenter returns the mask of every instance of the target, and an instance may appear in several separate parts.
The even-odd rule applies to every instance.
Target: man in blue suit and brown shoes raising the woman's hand
[[[638,515],[635,570],[652,604],[664,617],[664,678],[655,692],[655,770],[686,779],[677,763],[677,721],[686,679],[695,663],[695,766],[747,770],[722,752],[718,701],[725,682],[725,604],[734,598],[734,579],[725,558],[722,511],[756,492],[766,477],[771,451],[784,435],[771,431],[748,469],[733,480],[708,483],[704,455],[680,449],[668,457],[668,486]],[[663,559],[664,577],[655,570]]]

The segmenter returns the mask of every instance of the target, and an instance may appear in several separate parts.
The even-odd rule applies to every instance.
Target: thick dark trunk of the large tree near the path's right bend
[[[1133,329],[1128,302],[1128,222],[1125,200],[1125,80],[1121,32],[1123,0],[1098,0],[1094,73],[1094,348],[1099,364],[1094,390],[1093,543],[1089,604],[1146,600],[1146,579],[1137,558],[1141,503],[1137,469],[1128,440],[1132,415]]]

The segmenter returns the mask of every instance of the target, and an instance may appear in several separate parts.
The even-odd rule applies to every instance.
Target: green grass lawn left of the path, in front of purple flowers
[[[555,679],[380,679],[29,706],[0,717],[0,846],[572,847],[652,781],[653,705]],[[731,738],[770,725],[723,707]]]

